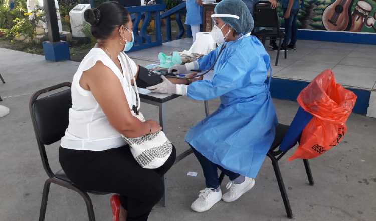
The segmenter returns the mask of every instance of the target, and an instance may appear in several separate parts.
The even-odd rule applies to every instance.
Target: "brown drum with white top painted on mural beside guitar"
[[[365,23],[365,19],[372,11],[372,6],[365,1],[358,1],[355,9],[352,12],[352,25],[349,29],[350,32],[360,32]]]

